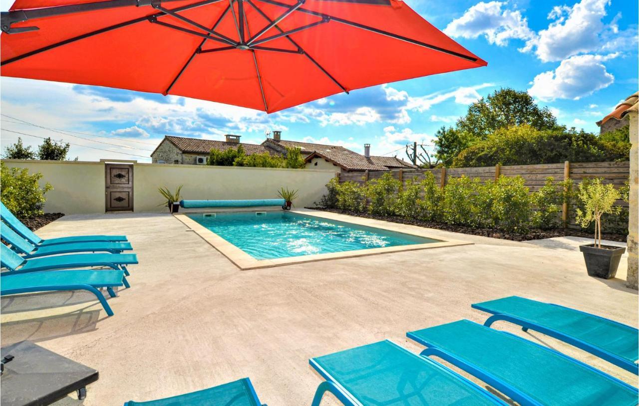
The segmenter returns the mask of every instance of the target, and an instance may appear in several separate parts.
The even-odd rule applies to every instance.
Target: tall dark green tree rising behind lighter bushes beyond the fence
[[[450,163],[463,149],[500,128],[523,124],[537,130],[550,130],[557,127],[557,119],[548,107],[540,108],[526,91],[499,89],[472,103],[466,116],[459,118],[454,127],[442,127],[435,134],[437,157]]]

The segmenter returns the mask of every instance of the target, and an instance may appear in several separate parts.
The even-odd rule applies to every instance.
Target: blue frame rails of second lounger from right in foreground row
[[[597,373],[597,375],[600,375],[601,377],[603,377],[605,379],[616,380],[617,382],[622,384],[622,386],[625,386],[625,387],[627,387],[629,389],[632,389],[633,391],[635,391],[639,395],[639,390],[636,387],[633,387],[633,386],[631,386],[629,384],[626,384],[626,382],[623,382],[622,380],[619,380],[619,379],[617,379],[615,377],[612,377],[612,376],[610,376],[610,375],[608,375],[608,374],[606,374],[604,372],[601,372],[600,370],[597,370],[597,368],[593,368],[592,366],[587,365],[585,363],[582,363],[581,361],[578,361],[578,360],[576,360],[574,358],[571,358],[571,357],[567,356],[566,354],[562,354],[561,352],[558,352],[557,350],[553,350],[553,349],[551,349],[549,347],[544,347],[541,344],[534,343],[532,341],[526,340],[525,338],[521,338],[520,336],[516,336],[516,335],[514,335],[512,333],[509,333],[507,331],[499,331],[499,332],[502,333],[502,334],[514,337],[517,340],[520,340],[522,342],[527,343],[528,345],[532,344],[532,345],[535,345],[536,347],[538,347],[539,349],[550,351],[550,352],[554,352],[558,356],[566,359],[566,361],[569,361],[569,362],[574,363],[574,364],[581,365],[584,368],[587,368],[588,370]],[[442,349],[438,348],[436,345],[433,345],[433,344],[427,342],[426,340],[423,340],[419,336],[413,335],[413,333],[406,333],[406,336],[408,338],[410,338],[411,340],[413,340],[413,341],[415,341],[417,343],[420,343],[421,345],[424,345],[425,347],[427,347],[425,350],[420,352],[420,354],[419,354],[420,356],[422,356],[422,357],[430,357],[430,356],[439,357],[439,358],[443,359],[444,361],[446,361],[448,363],[451,363],[452,365],[458,367],[459,369],[470,373],[470,375],[473,375],[477,379],[482,380],[483,382],[486,382],[487,384],[489,384],[490,386],[494,387],[495,389],[497,389],[501,393],[504,393],[504,395],[508,396],[509,398],[514,400],[515,402],[519,403],[521,406],[544,406],[543,403],[539,403],[536,400],[530,398],[530,396],[525,395],[525,393],[522,393],[516,387],[513,387],[510,384],[502,382],[502,380],[500,380],[499,378],[495,377],[491,373],[482,370],[481,368],[479,368],[478,366],[473,365],[472,363],[468,363],[468,362],[464,361],[463,359],[460,359],[459,357],[455,356],[454,354],[450,354],[449,352],[446,352],[445,350],[442,350]]]

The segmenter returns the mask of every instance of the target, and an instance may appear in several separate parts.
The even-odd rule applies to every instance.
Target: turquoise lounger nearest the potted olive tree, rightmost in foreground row
[[[572,308],[510,296],[475,303],[473,308],[492,313],[484,326],[504,320],[539,331],[590,352],[601,359],[639,375],[639,330]]]

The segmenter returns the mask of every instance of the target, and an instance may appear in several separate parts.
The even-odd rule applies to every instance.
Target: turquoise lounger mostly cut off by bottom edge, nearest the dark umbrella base
[[[242,378],[227,384],[213,386],[197,392],[185,393],[148,402],[129,400],[124,406],[261,406],[250,379]],[[266,406],[266,405],[263,405]]]

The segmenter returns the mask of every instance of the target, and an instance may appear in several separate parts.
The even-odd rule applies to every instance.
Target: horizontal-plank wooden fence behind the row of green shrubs
[[[353,181],[356,183],[364,183],[367,180],[378,179],[389,171],[383,170],[379,172],[344,172],[339,174],[340,183],[346,181]],[[589,177],[600,177],[603,179],[603,183],[612,183],[615,187],[619,188],[626,183],[630,176],[630,163],[629,162],[585,162],[585,163],[548,163],[540,165],[511,165],[494,167],[478,167],[478,168],[441,168],[441,169],[398,169],[392,170],[390,173],[395,179],[402,181],[402,184],[408,179],[424,179],[426,172],[431,172],[435,177],[435,181],[440,186],[445,186],[448,179],[451,177],[472,177],[479,178],[482,181],[494,181],[499,176],[521,176],[524,179],[525,186],[528,187],[530,192],[536,192],[541,186],[546,183],[546,177],[553,177],[556,182],[563,181],[564,179],[573,179],[575,185],[581,183],[583,179]],[[617,200],[617,204],[623,207],[624,212],[627,214],[628,204],[623,200]],[[610,228],[623,230],[624,219],[627,219],[627,215],[620,216],[620,220],[617,224],[609,224]],[[574,221],[574,204],[571,207],[564,206],[562,209],[562,220],[564,220],[568,227],[578,228]],[[627,222],[625,225],[627,228]]]

